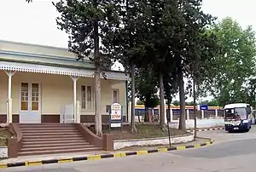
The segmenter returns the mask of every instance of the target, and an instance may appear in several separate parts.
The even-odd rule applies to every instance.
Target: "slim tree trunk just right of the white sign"
[[[135,75],[134,65],[131,63],[131,132],[137,132],[135,125]]]

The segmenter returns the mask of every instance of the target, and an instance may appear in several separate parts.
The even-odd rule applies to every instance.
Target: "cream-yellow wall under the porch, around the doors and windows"
[[[41,91],[41,114],[60,114],[61,106],[73,104],[73,80],[69,76],[40,74],[32,72],[16,72],[12,77],[13,114],[20,112],[20,85],[21,83],[39,83]],[[95,89],[94,78],[79,77],[77,82],[77,100],[81,101],[81,85],[90,85]],[[119,103],[126,114],[125,81],[102,79],[101,82],[102,115],[108,115],[106,106],[113,103],[113,89],[119,89]],[[94,92],[93,92],[94,95]],[[8,77],[0,71],[0,114],[6,114],[8,99]],[[93,96],[93,106],[95,106]],[[92,110],[81,110],[81,115],[94,115]]]

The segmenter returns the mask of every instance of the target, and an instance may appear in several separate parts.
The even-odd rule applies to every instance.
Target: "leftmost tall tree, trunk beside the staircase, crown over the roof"
[[[104,77],[104,71],[109,70],[112,61],[108,49],[104,44],[100,45],[100,39],[103,40],[106,32],[119,26],[119,1],[61,0],[53,4],[61,14],[56,19],[57,26],[71,35],[69,50],[77,54],[78,60],[85,60],[93,52],[92,57],[89,57],[96,66],[96,135],[102,135],[101,77]]]

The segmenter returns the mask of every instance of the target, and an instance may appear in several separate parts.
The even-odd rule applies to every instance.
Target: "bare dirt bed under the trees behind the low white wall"
[[[114,140],[131,140],[131,139],[143,139],[143,138],[157,138],[166,137],[168,132],[162,131],[159,124],[137,124],[137,133],[131,133],[130,126],[123,126],[123,129],[108,129],[108,126],[102,127],[103,134],[113,134]],[[93,132],[94,129],[90,128]],[[186,131],[178,129],[170,129],[171,136],[188,135]]]

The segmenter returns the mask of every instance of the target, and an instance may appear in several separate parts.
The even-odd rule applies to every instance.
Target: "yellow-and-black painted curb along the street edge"
[[[70,163],[70,162],[78,162],[78,161],[91,161],[91,160],[99,160],[104,158],[119,158],[119,157],[128,157],[132,155],[143,155],[149,153],[157,153],[157,152],[172,152],[172,151],[180,151],[185,149],[191,148],[199,148],[202,146],[210,146],[214,140],[209,139],[209,141],[201,144],[196,145],[189,145],[189,146],[171,146],[166,148],[159,148],[154,150],[148,151],[136,151],[136,152],[118,152],[118,153],[109,153],[109,154],[102,154],[102,155],[90,155],[87,157],[77,157],[77,158],[61,158],[61,159],[48,159],[48,160],[41,160],[41,161],[26,161],[26,162],[17,162],[17,163],[0,163],[0,169],[10,168],[10,167],[21,167],[21,166],[36,166],[42,164],[49,164],[49,163]]]

